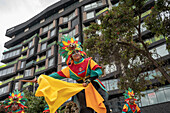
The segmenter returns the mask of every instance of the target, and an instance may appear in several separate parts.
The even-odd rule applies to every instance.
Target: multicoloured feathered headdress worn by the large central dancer
[[[67,65],[71,59],[73,51],[78,50],[82,56],[86,55],[80,45],[81,43],[75,40],[74,37],[70,37],[69,35],[61,37],[61,42],[59,42],[59,53],[66,58]]]

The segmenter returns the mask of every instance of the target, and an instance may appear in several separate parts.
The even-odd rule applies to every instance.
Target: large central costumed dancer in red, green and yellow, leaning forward
[[[55,80],[56,79],[60,80],[60,79],[64,79],[64,78],[72,78],[73,80],[76,80],[78,83],[82,83],[84,86],[83,89],[85,89],[85,87],[87,87],[87,86],[88,87],[91,86],[91,84],[92,84],[92,87],[94,87],[98,91],[99,95],[101,95],[104,99],[104,102],[103,102],[104,104],[99,104],[98,105],[98,106],[100,106],[99,108],[101,108],[101,106],[104,106],[105,111],[107,111],[107,113],[109,113],[110,110],[109,110],[109,106],[107,103],[107,98],[108,98],[107,91],[106,91],[105,87],[103,86],[103,84],[100,82],[100,80],[97,79],[100,75],[102,75],[101,67],[95,61],[93,61],[91,57],[85,58],[86,53],[82,50],[80,45],[81,45],[81,43],[76,41],[74,39],[74,37],[70,37],[70,36],[62,37],[61,42],[59,42],[59,46],[60,46],[59,53],[61,56],[66,58],[66,64],[68,66],[66,68],[62,69],[61,71],[52,73],[49,76],[52,78],[55,78]],[[43,75],[43,80],[44,80],[44,77],[49,78],[48,76]],[[42,75],[39,78],[42,78]],[[49,78],[49,79],[51,79],[51,78]],[[36,79],[34,79],[33,81],[36,82]],[[46,87],[44,85],[44,86],[42,86],[42,88],[40,88],[41,81],[42,81],[42,79],[41,80],[38,79],[39,88],[37,89],[38,90],[37,92],[39,92],[40,89],[43,89],[43,87]],[[46,81],[49,81],[49,80],[46,80]],[[53,81],[53,80],[51,79],[50,83],[51,83],[51,81]],[[90,85],[88,85],[89,83],[90,83]],[[75,83],[72,86],[74,86],[74,85],[75,85]],[[81,84],[79,84],[79,85],[81,85]],[[52,84],[51,86],[54,86],[54,85]],[[57,86],[55,86],[55,87],[57,87]],[[75,87],[79,87],[79,86],[75,86]],[[82,85],[81,85],[81,87],[82,87]],[[76,90],[76,89],[73,88],[70,90]],[[96,108],[87,107],[87,102],[95,102],[95,101],[92,101],[94,98],[99,99],[102,97],[94,96],[94,98],[92,98],[92,99],[91,98],[87,99],[87,95],[85,95],[85,93],[86,93],[85,91],[87,91],[87,90],[82,90],[82,91],[80,90],[77,92],[78,94],[76,95],[79,105],[80,105],[80,113],[93,113],[94,112],[93,109],[96,109]],[[36,92],[36,96],[44,96],[44,95],[42,95],[42,91],[40,91],[40,93],[39,93],[40,95],[37,92]],[[68,92],[68,93],[70,93],[70,92]],[[88,92],[88,94],[90,95],[89,97],[91,97],[91,95],[93,95],[94,93],[91,94],[91,92]],[[44,96],[44,97],[47,97],[47,96]],[[46,100],[50,100],[50,99],[46,99]],[[93,104],[90,104],[90,106],[93,106]],[[95,110],[95,111],[97,111],[97,110]],[[102,111],[102,113],[104,113],[104,112]]]

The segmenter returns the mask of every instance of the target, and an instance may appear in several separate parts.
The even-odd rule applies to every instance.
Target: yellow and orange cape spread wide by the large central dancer
[[[85,89],[87,107],[91,107],[97,113],[106,113],[103,104],[104,99],[90,83],[87,87],[82,84],[68,83],[54,79],[46,75],[38,78],[39,87],[35,96],[44,96],[51,113],[54,113],[65,101]]]

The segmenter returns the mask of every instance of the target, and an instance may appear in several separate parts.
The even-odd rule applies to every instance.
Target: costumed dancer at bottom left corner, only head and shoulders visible
[[[20,93],[18,90],[14,91],[4,103],[7,103],[8,106],[5,106],[6,111],[11,107],[11,112],[8,113],[25,113],[24,108],[27,108],[25,105],[27,99],[23,97],[24,93]]]

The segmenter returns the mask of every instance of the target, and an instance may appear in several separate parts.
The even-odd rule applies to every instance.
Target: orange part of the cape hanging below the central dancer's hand
[[[93,87],[92,83],[85,89],[87,107],[91,107],[97,113],[106,113],[106,107],[103,103],[104,99]]]

